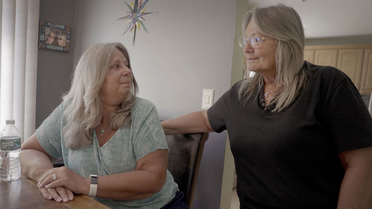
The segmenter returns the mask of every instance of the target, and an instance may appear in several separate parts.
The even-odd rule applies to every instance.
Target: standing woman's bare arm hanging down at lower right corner
[[[372,147],[341,152],[345,168],[337,209],[371,209]]]

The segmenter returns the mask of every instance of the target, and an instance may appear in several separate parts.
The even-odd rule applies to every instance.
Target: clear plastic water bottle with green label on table
[[[6,120],[0,132],[0,179],[14,181],[21,175],[19,153],[21,152],[21,133],[14,125],[15,120]]]

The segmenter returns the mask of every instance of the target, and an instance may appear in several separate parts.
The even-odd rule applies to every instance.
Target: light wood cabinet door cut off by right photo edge
[[[364,49],[362,79],[360,82],[360,94],[372,92],[372,48]]]

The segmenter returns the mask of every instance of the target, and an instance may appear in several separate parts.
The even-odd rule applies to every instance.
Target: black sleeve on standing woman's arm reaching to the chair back
[[[235,86],[236,84],[231,87],[230,90],[226,91],[217,102],[207,110],[208,121],[211,124],[212,129],[217,133],[226,130],[226,114],[230,104],[231,91]]]

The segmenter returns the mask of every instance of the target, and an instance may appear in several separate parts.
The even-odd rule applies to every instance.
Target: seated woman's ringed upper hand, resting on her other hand
[[[89,193],[89,181],[65,166],[47,171],[38,182],[39,188],[50,189],[62,186],[67,187],[75,194]]]

